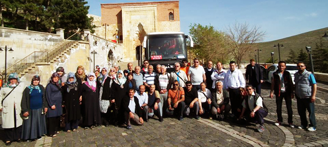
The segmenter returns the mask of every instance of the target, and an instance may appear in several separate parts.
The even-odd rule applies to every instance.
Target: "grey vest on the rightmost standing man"
[[[312,85],[310,83],[310,72],[304,70],[303,73],[295,73],[295,95],[298,98],[310,98],[312,95]]]

